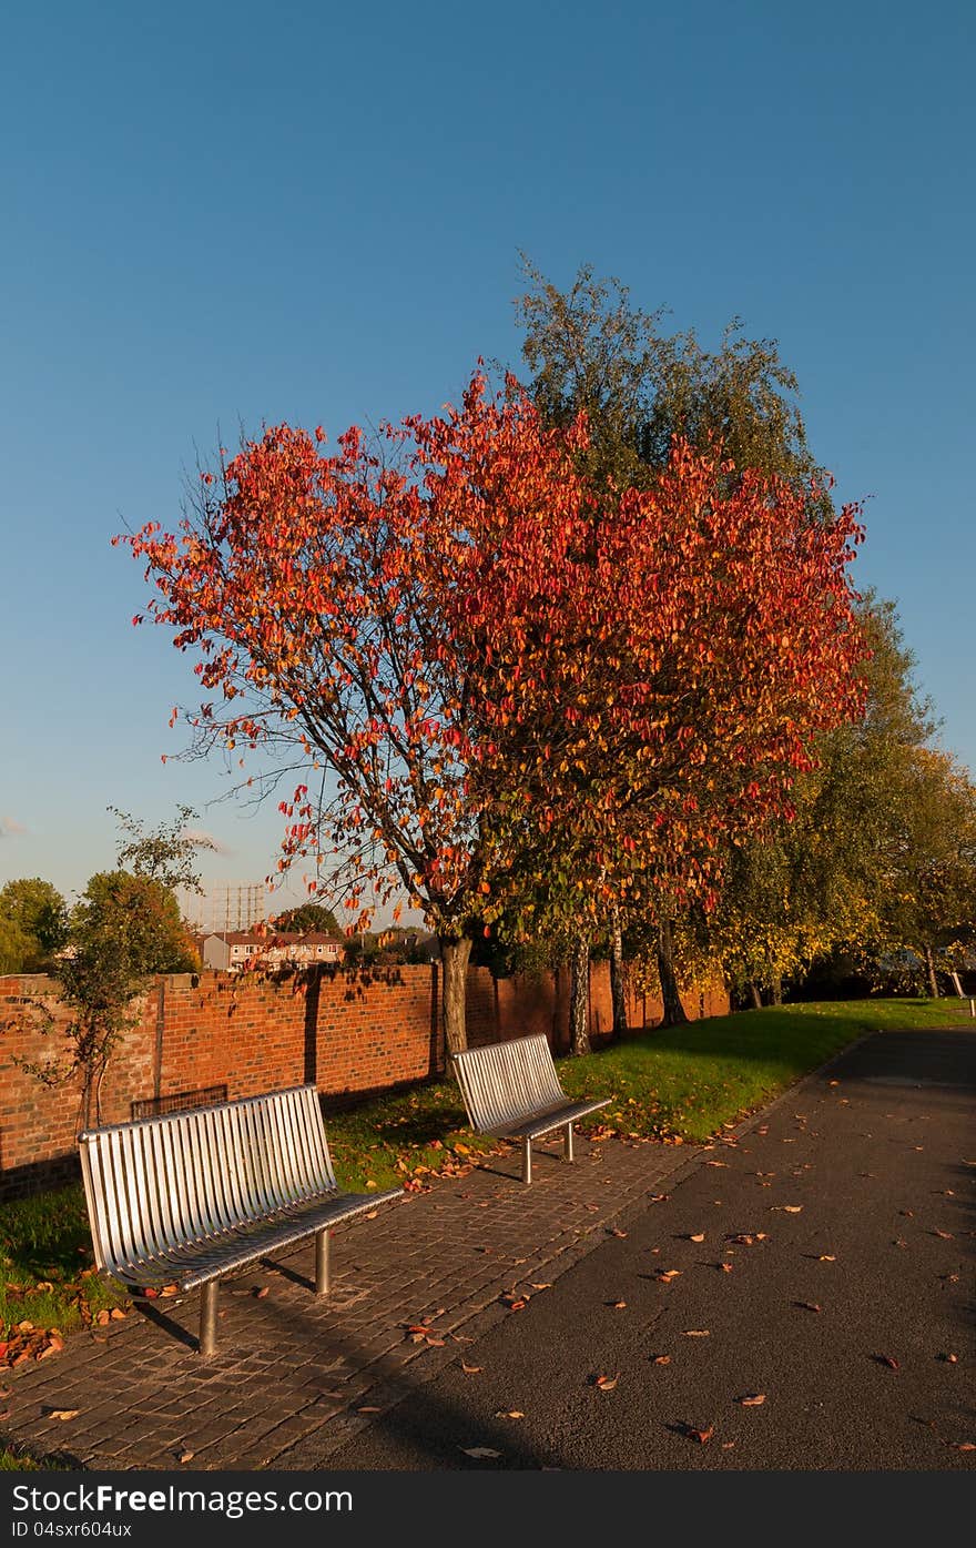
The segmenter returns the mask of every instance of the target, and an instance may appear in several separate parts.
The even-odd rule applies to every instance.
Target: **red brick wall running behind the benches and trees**
[[[45,1006],[48,1034],[28,1002]],[[133,1002],[135,1025],[122,1036],[101,1091],[101,1122],[131,1118],[131,1102],[226,1085],[229,1098],[314,1081],[325,1096],[346,1098],[418,1081],[442,1068],[436,966],[373,971],[323,969],[319,981],[241,981],[227,974],[173,975]],[[722,995],[685,998],[690,1015],[729,1009]],[[631,1026],[654,1025],[660,1005],[628,1003]],[[467,1026],[472,1043],[546,1033],[566,1046],[569,975],[492,978],[472,968]],[[606,963],[591,969],[591,1034],[611,1026]],[[0,1197],[53,1180],[73,1166],[80,1082],[46,1088],[19,1059],[46,1063],[63,1053],[67,1012],[45,977],[0,978]],[[63,1163],[63,1166],[62,1166]]]

